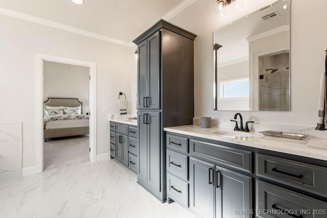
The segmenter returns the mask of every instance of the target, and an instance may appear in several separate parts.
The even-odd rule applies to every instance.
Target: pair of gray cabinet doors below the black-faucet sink
[[[201,217],[250,217],[235,210],[252,208],[251,178],[190,158],[190,209]]]

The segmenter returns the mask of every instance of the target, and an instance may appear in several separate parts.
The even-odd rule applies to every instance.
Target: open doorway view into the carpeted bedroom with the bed
[[[89,67],[43,61],[43,103],[43,170],[89,161]]]

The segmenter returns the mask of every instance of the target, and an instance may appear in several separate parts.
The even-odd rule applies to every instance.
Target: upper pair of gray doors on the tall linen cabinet
[[[137,45],[138,58],[138,104],[137,109],[159,108],[159,31]]]

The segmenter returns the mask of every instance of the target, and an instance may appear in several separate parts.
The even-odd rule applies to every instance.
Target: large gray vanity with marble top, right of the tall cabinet
[[[199,217],[327,217],[325,140],[193,125],[165,131],[167,201]]]

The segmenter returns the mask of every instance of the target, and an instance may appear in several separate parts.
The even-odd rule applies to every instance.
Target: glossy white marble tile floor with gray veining
[[[175,202],[160,203],[136,179],[114,159],[0,179],[0,218],[195,217]]]

